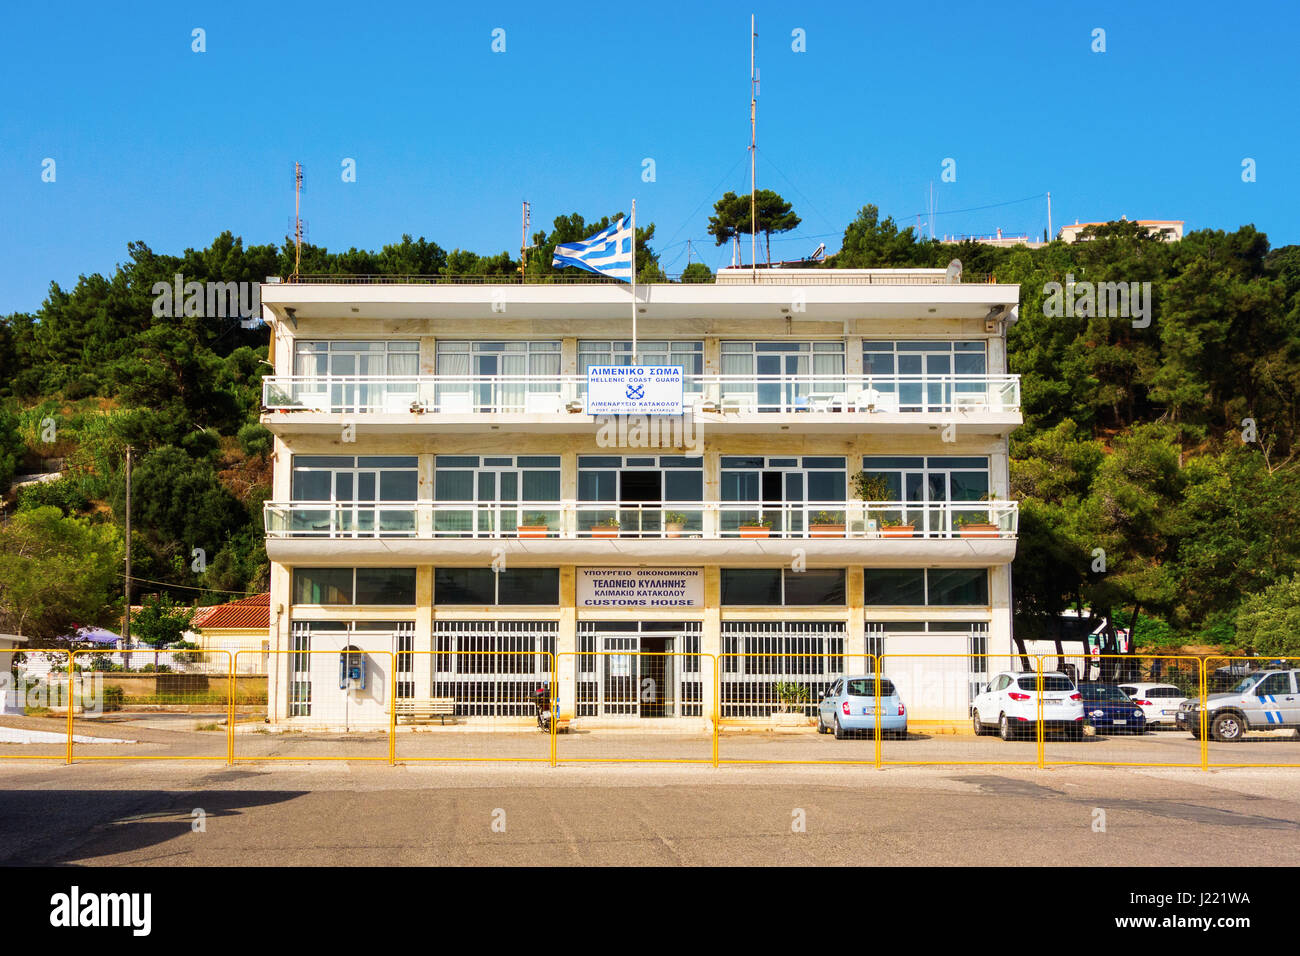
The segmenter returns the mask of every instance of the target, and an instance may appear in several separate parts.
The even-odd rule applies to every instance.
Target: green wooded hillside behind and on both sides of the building
[[[715,209],[719,243],[749,228],[741,199],[742,211],[734,198]],[[764,239],[798,222],[775,194],[764,209]],[[528,280],[558,277],[555,245],[616,219],[575,213],[534,233]],[[653,238],[653,224],[637,230],[638,274],[664,281]],[[1026,419],[1011,438],[1017,635],[1050,636],[1061,610],[1080,607],[1136,620],[1143,646],[1297,653],[1296,630],[1278,622],[1294,622],[1300,602],[1300,247],[1273,250],[1249,225],[1166,243],[1134,222],[1036,250],[949,245],[867,206],[820,265],[942,268],[954,258],[966,281],[1020,284],[1009,332]],[[112,276],[52,285],[36,312],[0,319],[0,486],[20,472],[60,472],[6,496],[0,630],[46,639],[117,623],[127,445],[133,600],[212,604],[266,587],[266,332],[238,317],[155,316],[152,287],[176,273],[260,282],[292,271],[291,246],[244,247],[230,233],[182,255],[136,242]],[[507,252],[410,235],[377,252],[306,246],[300,271],[519,280]],[[1057,315],[1048,285],[1071,277],[1150,282],[1150,324]],[[698,264],[684,276],[710,280]]]

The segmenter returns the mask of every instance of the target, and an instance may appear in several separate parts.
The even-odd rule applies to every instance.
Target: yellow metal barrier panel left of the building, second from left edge
[[[74,650],[68,669],[68,762],[229,762],[234,695],[228,650]],[[212,717],[226,723],[220,736],[222,721]],[[78,734],[78,722],[82,731],[95,732]]]

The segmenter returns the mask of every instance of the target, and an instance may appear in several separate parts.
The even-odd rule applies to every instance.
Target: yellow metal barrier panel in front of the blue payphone
[[[364,635],[343,635],[358,640]],[[231,762],[394,761],[396,678],[391,650],[352,644],[316,650],[239,650],[268,661],[268,711],[261,727],[231,723]],[[380,750],[370,753],[368,750]]]

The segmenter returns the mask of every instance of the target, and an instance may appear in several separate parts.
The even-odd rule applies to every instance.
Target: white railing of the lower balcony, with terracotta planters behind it
[[[1014,501],[266,502],[273,538],[1015,537]]]

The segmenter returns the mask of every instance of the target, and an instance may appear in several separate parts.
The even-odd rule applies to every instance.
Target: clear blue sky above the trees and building
[[[803,219],[774,258],[836,250],[866,203],[915,225],[931,182],[936,233],[1041,235],[1050,190],[1054,226],[1253,222],[1300,242],[1294,3],[53,1],[0,13],[0,313],[110,272],[133,239],[280,242],[295,160],[330,250],[411,233],[517,254],[521,199],[537,229],[636,198],[668,272],[686,239],[725,264],[706,224],[749,186],[751,12],[759,186]]]

